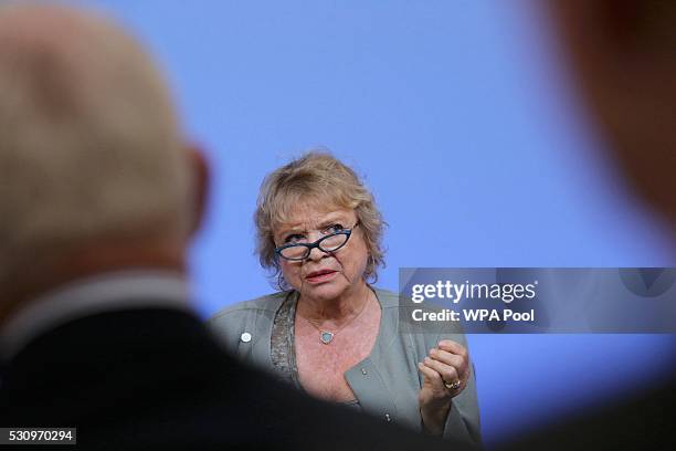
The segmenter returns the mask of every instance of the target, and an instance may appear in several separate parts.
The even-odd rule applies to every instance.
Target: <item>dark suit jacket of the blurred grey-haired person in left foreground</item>
[[[109,312],[9,363],[0,426],[77,427],[86,449],[448,449],[279,384],[230,358],[190,314]]]

